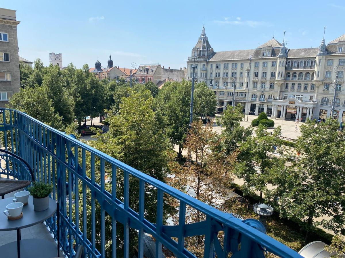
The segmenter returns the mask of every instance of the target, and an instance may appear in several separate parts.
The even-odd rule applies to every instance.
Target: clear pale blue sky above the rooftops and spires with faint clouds
[[[345,33],[339,1],[6,1],[17,10],[19,55],[62,53],[63,65],[132,62],[186,66],[203,26],[215,51],[254,49],[272,38],[289,48],[317,47]]]

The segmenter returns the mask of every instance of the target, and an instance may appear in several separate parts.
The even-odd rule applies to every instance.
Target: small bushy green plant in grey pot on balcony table
[[[29,187],[28,191],[32,195],[34,211],[44,211],[49,206],[49,194],[52,187],[50,184],[43,182],[33,182],[33,186]]]

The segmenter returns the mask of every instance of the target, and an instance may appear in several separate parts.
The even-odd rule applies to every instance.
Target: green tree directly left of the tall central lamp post
[[[179,161],[189,126],[190,93],[191,83],[183,80],[165,83],[157,96],[157,108],[165,117],[166,135],[179,146]]]

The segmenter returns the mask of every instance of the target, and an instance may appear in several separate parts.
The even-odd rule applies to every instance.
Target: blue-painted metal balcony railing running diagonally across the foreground
[[[74,255],[73,244],[83,245],[88,257],[106,257],[106,254],[116,257],[117,251],[123,251],[123,256],[129,257],[130,228],[138,232],[139,257],[143,257],[144,232],[156,239],[156,257],[161,257],[162,245],[177,257],[195,257],[188,250],[185,238],[199,235],[205,236],[204,257],[228,257],[229,253],[232,257],[264,257],[265,251],[280,257],[301,257],[294,250],[253,228],[262,226],[256,220],[242,221],[232,214],[220,212],[20,111],[0,110],[4,147],[30,164],[36,180],[53,185],[52,198],[59,202],[60,222],[54,216],[46,221],[46,225],[56,237],[56,225],[60,223],[60,244],[67,257]],[[106,168],[111,170],[109,191],[105,189]],[[121,200],[116,196],[119,191],[117,173],[123,174]],[[138,181],[138,212],[129,204],[129,178]],[[150,191],[157,190],[155,223],[145,218],[146,186]],[[163,225],[164,195],[179,202],[179,225]],[[186,224],[187,205],[204,214],[205,221]],[[97,228],[96,207],[100,209],[100,225]],[[112,240],[111,245],[106,245],[106,213],[110,216],[110,225],[108,221],[107,227],[112,230],[111,236],[107,237]],[[117,222],[123,225],[121,250],[116,250]]]

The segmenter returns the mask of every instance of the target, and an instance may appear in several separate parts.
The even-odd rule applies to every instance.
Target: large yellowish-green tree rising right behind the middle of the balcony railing
[[[109,115],[109,132],[99,134],[98,139],[89,144],[145,174],[166,182],[168,164],[172,160],[171,145],[168,138],[158,126],[159,124],[156,121],[156,114],[152,110],[152,106],[153,98],[148,90],[138,93],[133,89],[129,89],[129,96],[123,97],[121,100],[118,114]],[[99,166],[98,161],[96,166]],[[106,166],[108,178],[111,178],[111,172],[111,166]],[[116,176],[117,198],[123,200],[124,175],[120,169],[117,170]],[[111,191],[110,183],[106,183],[106,189]],[[138,212],[139,182],[132,176],[130,176],[129,180],[129,191],[129,206]],[[98,212],[99,205],[96,209],[96,212]],[[157,191],[146,185],[145,218],[151,222],[155,222],[156,210]],[[175,213],[175,209],[168,202],[165,202],[164,212],[164,220],[166,220],[169,214]],[[88,216],[88,220],[90,219],[91,217]],[[106,216],[106,223],[109,221],[109,216]],[[96,225],[99,225],[99,223],[99,219],[97,219]],[[91,227],[89,221],[87,226]],[[111,225],[107,226],[106,230],[106,245],[109,245],[111,243]],[[88,232],[90,231],[88,230]],[[116,236],[117,249],[121,250],[124,243],[122,226],[117,227]],[[130,229],[129,239],[130,248],[137,245],[138,233],[136,230]],[[97,243],[99,244],[100,240],[97,240]],[[108,255],[110,254],[107,254],[107,257]],[[119,252],[118,255],[121,257],[123,253],[121,254]]]

